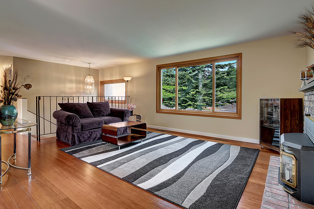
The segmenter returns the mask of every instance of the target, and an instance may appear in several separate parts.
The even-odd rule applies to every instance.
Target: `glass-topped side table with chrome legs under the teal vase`
[[[36,123],[21,119],[21,118],[17,118],[16,121],[14,122],[14,124],[12,126],[2,126],[0,124],[0,184],[2,184],[2,176],[5,175],[8,170],[9,167],[15,168],[15,169],[19,169],[19,170],[27,170],[27,175],[31,175],[31,171],[30,171],[30,138],[31,138],[31,127],[37,125]],[[23,167],[18,167],[16,165],[12,165],[10,164],[10,160],[11,159],[16,159],[16,133],[21,133],[21,132],[28,132],[28,164],[27,164],[27,168],[23,168]],[[13,145],[13,155],[11,157],[9,157],[8,162],[4,161],[1,159],[1,135],[2,134],[7,134],[7,133],[13,133],[14,134],[14,145]],[[2,173],[2,163],[6,164],[7,166],[7,170],[5,170]]]

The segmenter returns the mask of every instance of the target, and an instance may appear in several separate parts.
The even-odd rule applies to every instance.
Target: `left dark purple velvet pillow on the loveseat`
[[[93,114],[90,112],[86,103],[58,103],[62,110],[73,113],[78,118],[93,118]]]

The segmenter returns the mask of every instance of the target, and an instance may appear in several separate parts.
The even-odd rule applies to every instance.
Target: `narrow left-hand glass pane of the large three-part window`
[[[161,108],[176,109],[176,68],[161,70]]]

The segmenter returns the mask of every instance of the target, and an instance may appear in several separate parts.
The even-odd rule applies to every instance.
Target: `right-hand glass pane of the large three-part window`
[[[215,111],[236,112],[236,60],[215,63]]]

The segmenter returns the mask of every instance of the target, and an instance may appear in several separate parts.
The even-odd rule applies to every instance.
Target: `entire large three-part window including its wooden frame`
[[[158,113],[241,119],[242,53],[157,65]]]

